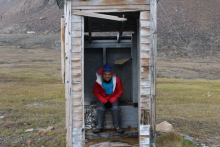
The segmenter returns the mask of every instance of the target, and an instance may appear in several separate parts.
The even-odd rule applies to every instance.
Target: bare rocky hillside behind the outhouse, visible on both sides
[[[159,56],[191,55],[189,52],[200,56],[220,54],[219,0],[161,0],[159,3]],[[59,33],[62,14],[55,0],[0,0],[0,33]]]

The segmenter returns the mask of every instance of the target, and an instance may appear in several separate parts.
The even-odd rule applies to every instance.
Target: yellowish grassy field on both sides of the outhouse
[[[0,146],[27,146],[28,140],[34,147],[65,146],[65,98],[58,70],[59,52],[30,49],[15,64],[21,52],[17,48],[0,48],[0,116],[5,117],[0,119]],[[220,91],[220,80],[211,83]],[[170,122],[176,134],[159,136],[157,145],[172,147],[177,143],[191,147],[191,142],[177,134],[219,144],[219,105],[220,96],[206,80],[158,78],[157,122]],[[48,126],[55,130],[39,136],[36,129]],[[30,128],[35,131],[25,133]]]

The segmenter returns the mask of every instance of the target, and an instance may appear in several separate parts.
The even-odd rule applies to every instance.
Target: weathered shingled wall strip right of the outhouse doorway
[[[151,75],[150,75],[150,11],[142,11],[139,19],[140,25],[140,76],[139,76],[139,144],[150,145],[150,117],[151,117]]]

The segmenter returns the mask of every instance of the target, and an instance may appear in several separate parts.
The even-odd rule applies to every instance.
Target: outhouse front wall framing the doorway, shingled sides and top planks
[[[153,146],[156,119],[156,0],[72,0],[72,6],[71,1],[67,1],[64,10],[67,146],[81,147],[84,145],[85,138],[84,17],[71,14],[72,10],[77,9],[87,12],[140,11],[138,40],[139,143],[140,147]]]

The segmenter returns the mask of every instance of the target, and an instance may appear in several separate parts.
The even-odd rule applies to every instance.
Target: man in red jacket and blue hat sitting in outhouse
[[[104,128],[104,118],[106,105],[109,103],[112,105],[112,119],[113,126],[118,133],[123,133],[121,128],[121,110],[119,108],[118,98],[123,93],[122,82],[116,77],[115,73],[112,71],[110,64],[105,64],[102,69],[98,70],[96,73],[97,79],[93,89],[93,93],[98,99],[97,111],[97,124],[93,129],[94,133],[100,133]]]

